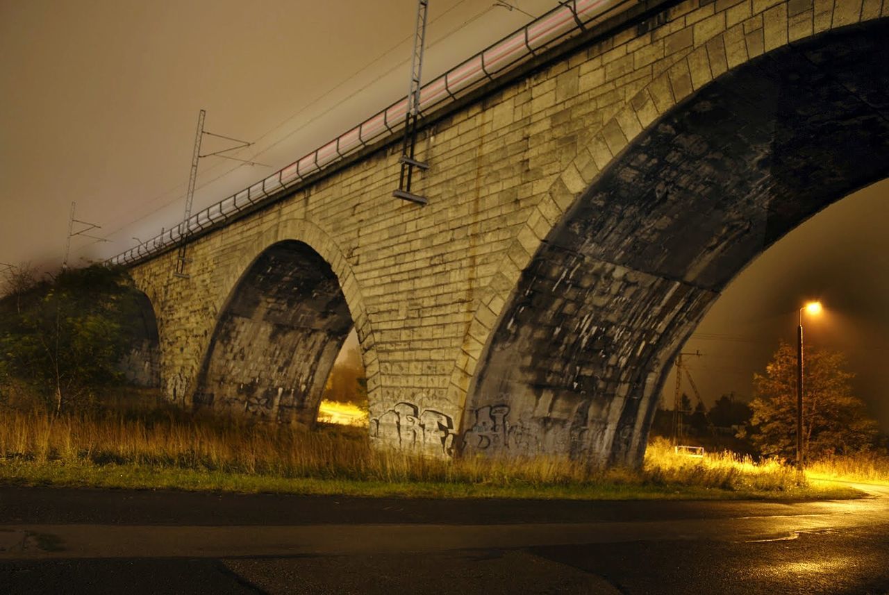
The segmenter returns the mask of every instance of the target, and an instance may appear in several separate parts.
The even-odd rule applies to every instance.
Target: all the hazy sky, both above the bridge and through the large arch
[[[492,4],[432,0],[425,80],[529,20]],[[201,108],[207,131],[256,143],[236,156],[271,167],[202,160],[195,210],[348,130],[406,92],[415,11],[414,0],[0,0],[0,262],[58,266],[71,201],[109,240],[76,239],[75,265],[176,225]],[[749,266],[687,347],[705,353],[690,362],[705,400],[749,397],[753,372],[793,340],[798,305],[820,297],[828,310],[807,339],[845,350],[889,430],[886,221],[883,183]]]

